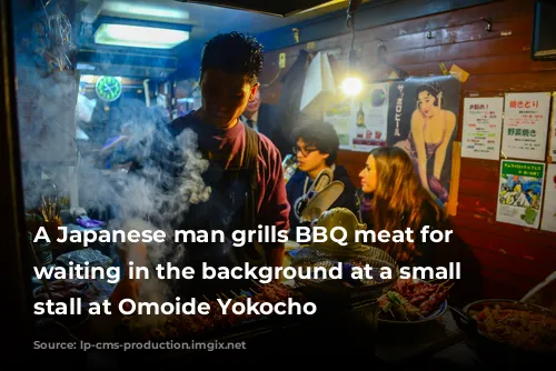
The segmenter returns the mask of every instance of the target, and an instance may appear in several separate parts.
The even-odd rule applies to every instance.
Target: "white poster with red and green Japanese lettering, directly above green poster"
[[[510,159],[545,161],[550,93],[507,93],[502,151]]]

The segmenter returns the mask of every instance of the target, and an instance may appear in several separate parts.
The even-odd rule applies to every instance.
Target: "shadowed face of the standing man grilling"
[[[206,70],[200,81],[202,110],[207,123],[219,128],[232,126],[255,98],[259,84],[251,87],[242,73]]]

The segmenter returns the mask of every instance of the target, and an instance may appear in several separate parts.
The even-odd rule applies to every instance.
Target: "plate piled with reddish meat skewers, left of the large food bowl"
[[[429,322],[446,311],[449,281],[426,282],[418,279],[399,279],[393,288],[378,298],[378,321],[385,323]]]

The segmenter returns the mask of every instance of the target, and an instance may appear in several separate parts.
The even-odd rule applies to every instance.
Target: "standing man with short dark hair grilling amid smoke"
[[[276,225],[277,231],[289,228],[289,203],[286,195],[281,156],[272,142],[261,133],[244,124],[239,117],[254,100],[262,67],[262,47],[252,38],[231,32],[209,40],[201,56],[200,90],[202,107],[176,119],[167,128],[169,137],[177,138],[190,129],[197,134],[198,150],[209,160],[202,174],[211,188],[207,202],[192,204],[183,221],[176,225],[181,230],[222,230],[231,235],[235,230],[256,229],[258,224]],[[161,146],[165,147],[165,146]],[[175,153],[157,151],[155,162],[171,173],[175,180],[183,171],[177,167]],[[177,184],[179,187],[179,184]],[[183,265],[193,267],[195,280],[182,280],[178,294],[200,297],[205,293],[229,290],[241,282],[201,280],[201,264],[212,267],[242,267],[246,261],[260,261],[270,267],[281,267],[284,243],[266,243],[264,253],[251,243],[244,248],[219,243],[188,243]],[[147,255],[145,245],[136,245],[131,255]],[[222,253],[229,251],[229,253]],[[126,261],[123,262],[127,267]],[[137,299],[137,282],[125,278],[112,295]],[[221,291],[220,291],[221,292]]]

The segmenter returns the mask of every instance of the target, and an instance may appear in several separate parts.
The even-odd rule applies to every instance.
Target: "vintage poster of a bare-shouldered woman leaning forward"
[[[390,87],[387,143],[409,154],[421,184],[441,203],[449,195],[459,97],[460,82],[451,76],[408,78]]]

